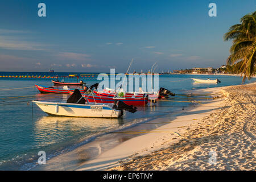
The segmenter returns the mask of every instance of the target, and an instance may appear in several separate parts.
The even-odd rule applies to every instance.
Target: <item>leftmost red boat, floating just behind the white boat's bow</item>
[[[54,88],[54,87],[46,87],[46,86],[43,86],[43,85],[36,85],[36,88],[38,88],[38,90],[41,92],[41,93],[69,93],[69,91],[73,92],[75,89],[77,88],[68,88],[68,86],[63,86],[63,88]],[[79,91],[81,92],[81,94],[85,93],[86,90],[88,88],[85,87],[85,89],[79,89]]]

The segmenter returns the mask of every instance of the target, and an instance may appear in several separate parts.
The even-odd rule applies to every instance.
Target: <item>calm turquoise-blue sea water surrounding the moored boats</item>
[[[6,75],[69,75],[89,73],[22,73],[0,72]],[[193,78],[218,78],[220,84],[195,84]],[[158,102],[155,106],[138,107],[136,113],[125,113],[123,118],[69,118],[48,116],[31,100],[67,101],[68,94],[40,94],[34,84],[52,86],[51,78],[1,78],[0,77],[0,170],[26,170],[36,165],[39,151],[46,151],[47,158],[71,151],[109,131],[123,129],[134,123],[145,122],[164,114],[180,111],[190,102]],[[59,79],[60,80],[60,79]],[[76,79],[74,79],[76,80]],[[97,78],[82,78],[87,85],[92,85]],[[250,81],[253,82],[255,78]],[[164,87],[176,94],[185,91],[216,86],[241,84],[242,78],[218,75],[161,75],[159,87]],[[5,90],[13,88],[24,88]],[[172,98],[185,101],[182,96]]]

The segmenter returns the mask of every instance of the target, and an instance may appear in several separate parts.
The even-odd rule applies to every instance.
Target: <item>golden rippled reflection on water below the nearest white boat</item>
[[[82,140],[86,134],[106,132],[122,123],[122,119],[44,116],[35,122],[35,139],[39,146],[60,143],[63,140],[72,139],[74,136],[77,141],[77,139]]]

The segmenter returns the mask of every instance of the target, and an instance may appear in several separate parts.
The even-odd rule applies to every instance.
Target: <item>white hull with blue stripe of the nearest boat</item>
[[[121,110],[115,110],[110,105],[70,104],[65,102],[32,101],[49,115],[63,117],[86,118],[118,118]]]

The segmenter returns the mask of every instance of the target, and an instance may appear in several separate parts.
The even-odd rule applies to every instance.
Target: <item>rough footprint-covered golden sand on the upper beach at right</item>
[[[226,96],[216,103],[220,109],[216,107],[212,114],[206,114],[192,125],[185,123],[183,131],[179,131],[181,136],[176,140],[170,135],[163,135],[158,143],[163,147],[159,150],[131,155],[108,169],[255,170],[256,83],[220,89]],[[133,142],[139,140],[138,137]],[[112,152],[115,150],[117,148]],[[216,157],[213,164],[209,163],[212,154]],[[80,169],[87,168],[83,166]]]

